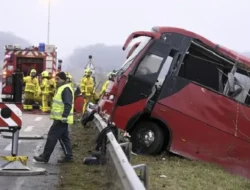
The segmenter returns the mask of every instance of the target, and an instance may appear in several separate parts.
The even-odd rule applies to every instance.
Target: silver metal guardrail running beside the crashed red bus
[[[88,111],[91,111],[91,109],[88,108]],[[107,126],[107,124],[102,120],[102,118],[98,114],[95,114],[94,116],[95,125],[97,126],[99,131],[102,131]],[[119,144],[112,132],[107,133],[107,138],[110,142],[110,144],[107,145],[107,149],[111,155],[111,158],[116,167],[117,173],[120,177],[124,189],[146,190],[148,188],[147,166],[145,164],[132,166],[121,147],[124,145],[124,143]],[[129,154],[130,153],[131,150],[129,150]],[[144,185],[137,173],[135,172],[135,169],[140,170],[140,178],[144,180]]]

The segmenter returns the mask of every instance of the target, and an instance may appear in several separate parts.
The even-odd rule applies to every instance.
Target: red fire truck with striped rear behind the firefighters
[[[31,69],[36,69],[37,74],[47,70],[55,75],[57,70],[57,51],[54,45],[21,48],[19,45],[6,45],[5,58],[2,70],[2,101],[9,101],[13,96],[12,74],[15,71],[29,75]],[[61,61],[59,61],[61,64]],[[58,65],[61,69],[61,65]]]

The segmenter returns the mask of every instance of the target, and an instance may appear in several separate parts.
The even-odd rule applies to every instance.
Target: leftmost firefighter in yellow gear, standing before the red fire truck
[[[39,86],[38,79],[36,77],[36,70],[32,69],[30,71],[30,76],[24,77],[23,82],[25,83],[23,109],[32,110],[34,96]]]

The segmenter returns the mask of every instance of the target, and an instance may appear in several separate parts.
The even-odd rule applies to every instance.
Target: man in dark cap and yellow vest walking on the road
[[[65,157],[57,163],[72,162],[72,148],[69,138],[69,125],[73,124],[74,93],[64,72],[56,74],[57,91],[53,97],[50,118],[54,120],[50,127],[44,151],[39,156],[34,156],[37,162],[47,163],[59,140]]]

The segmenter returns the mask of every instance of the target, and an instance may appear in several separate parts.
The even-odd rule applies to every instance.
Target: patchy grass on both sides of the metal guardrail
[[[60,190],[117,189],[114,167],[83,165],[93,149],[96,131],[75,125],[71,130],[74,163],[61,165]],[[147,164],[150,190],[249,190],[250,181],[223,169],[177,156],[132,156],[132,164]],[[110,167],[111,166],[111,167]],[[107,172],[109,175],[107,175]],[[114,174],[112,176],[111,174]],[[111,181],[111,182],[110,182]],[[117,183],[117,184],[115,184]],[[114,188],[111,188],[114,186]]]

